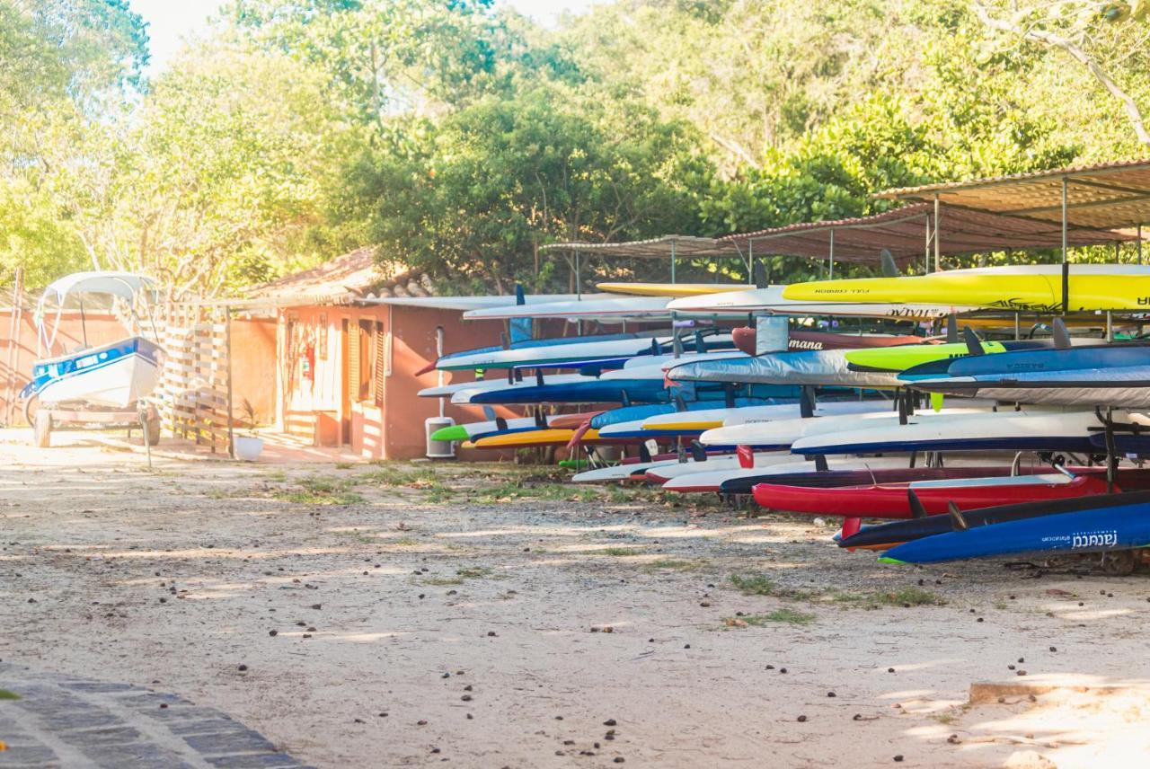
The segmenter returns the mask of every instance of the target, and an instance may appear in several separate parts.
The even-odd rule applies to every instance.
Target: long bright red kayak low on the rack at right
[[[908,491],[914,491],[928,515],[946,513],[950,502],[954,502],[960,510],[974,510],[1106,493],[1105,468],[1078,468],[1073,472],[1073,478],[1048,472],[835,489],[762,483],[756,485],[751,493],[756,502],[773,510],[852,518],[910,518]],[[1120,470],[1118,474],[1117,485],[1122,491],[1145,487],[1148,483],[1150,472],[1144,470]]]

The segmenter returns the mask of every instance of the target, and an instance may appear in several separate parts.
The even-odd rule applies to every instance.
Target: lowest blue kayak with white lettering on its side
[[[1150,492],[1102,494],[1059,513],[972,526],[915,539],[887,551],[884,563],[934,563],[997,555],[1101,553],[1150,546]],[[988,513],[994,508],[987,508]]]

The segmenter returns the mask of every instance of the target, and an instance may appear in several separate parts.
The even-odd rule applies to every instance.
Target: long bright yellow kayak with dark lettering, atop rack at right
[[[1060,313],[1061,264],[949,270],[899,278],[796,283],[785,299],[820,302],[906,302]],[[1067,310],[1150,310],[1150,268],[1072,264]]]

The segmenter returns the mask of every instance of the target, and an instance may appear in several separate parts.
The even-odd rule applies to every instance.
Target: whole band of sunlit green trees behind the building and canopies
[[[1138,157],[1148,15],[616,0],[543,30],[490,0],[232,0],[148,79],[126,0],[0,0],[0,283],[123,268],[221,293],[373,244],[460,290],[568,290],[539,246],[856,216],[885,187]]]

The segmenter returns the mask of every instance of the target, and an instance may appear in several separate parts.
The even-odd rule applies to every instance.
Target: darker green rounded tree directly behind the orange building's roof
[[[414,149],[365,159],[355,179],[382,257],[443,282],[557,287],[545,243],[698,228],[710,168],[693,131],[634,102],[538,87],[413,130]]]

